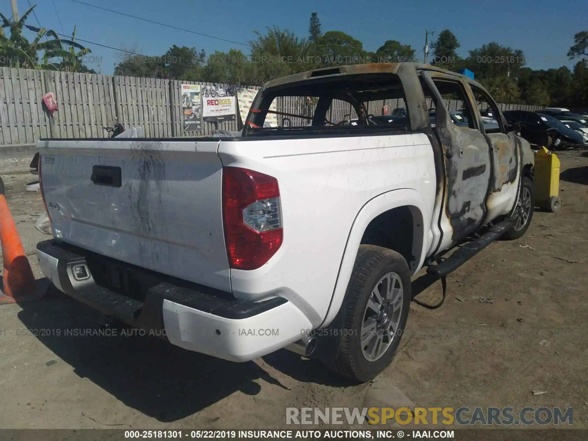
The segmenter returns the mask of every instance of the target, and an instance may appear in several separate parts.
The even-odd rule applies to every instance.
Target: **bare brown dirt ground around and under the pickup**
[[[559,158],[559,212],[535,212],[522,239],[492,243],[452,273],[442,308],[412,303],[381,377],[417,406],[573,407],[573,426],[588,428],[588,156]],[[34,250],[49,236],[34,228],[44,208],[25,191],[29,160],[5,159],[0,173],[42,278]],[[439,297],[437,285],[419,295]],[[54,291],[0,306],[0,427],[276,429],[286,407],[362,407],[370,387],[286,350],[237,364],[148,337],[51,335],[97,327],[97,313]]]

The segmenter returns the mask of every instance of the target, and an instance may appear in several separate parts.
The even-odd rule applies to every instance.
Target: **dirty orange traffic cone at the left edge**
[[[2,273],[4,295],[0,293],[0,305],[41,297],[41,293],[36,290],[35,276],[29,259],[26,258],[25,250],[22,248],[21,238],[4,197],[2,178],[0,178],[0,240],[4,261],[4,273]]]

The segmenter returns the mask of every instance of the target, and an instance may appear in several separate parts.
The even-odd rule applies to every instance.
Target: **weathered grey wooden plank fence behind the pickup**
[[[183,131],[181,83],[155,78],[0,68],[0,146],[34,145],[39,138],[106,137],[103,128],[112,126],[115,118],[126,128],[141,126],[148,138],[211,135],[216,128],[242,129],[243,122],[236,109],[235,121],[203,122],[202,131]],[[55,93],[58,111],[53,116],[49,116],[42,105],[42,96],[47,92]],[[278,98],[276,105],[278,111],[297,115],[310,116],[314,109],[314,105],[295,97]],[[389,114],[398,106],[404,106],[402,99],[373,101],[369,103],[368,113],[382,115],[384,105],[388,106]],[[449,110],[458,110],[462,103],[448,100],[447,105]],[[538,109],[540,106],[500,104],[502,111]],[[348,114],[353,115],[351,105],[336,100],[329,109],[328,118],[338,122]],[[279,125],[282,122],[279,116]],[[306,125],[308,121],[290,118],[290,123]]]

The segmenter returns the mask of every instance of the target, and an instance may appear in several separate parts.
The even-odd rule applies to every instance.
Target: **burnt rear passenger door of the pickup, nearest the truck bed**
[[[492,178],[490,145],[476,127],[476,113],[459,78],[440,72],[422,71],[421,76],[435,105],[435,132],[445,155],[446,198],[440,211],[442,237],[434,253],[475,232],[486,218],[486,197]],[[423,85],[423,88],[425,87]],[[457,125],[445,100],[461,103]],[[433,113],[431,113],[433,115]],[[459,121],[462,121],[459,119]]]

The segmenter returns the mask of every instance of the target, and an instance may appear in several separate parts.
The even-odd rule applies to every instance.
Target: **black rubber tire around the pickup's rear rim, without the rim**
[[[362,350],[362,323],[366,316],[366,308],[372,291],[377,288],[380,279],[388,273],[396,273],[397,279],[402,282],[402,299],[398,296],[397,302],[394,302],[401,304],[402,309],[399,312],[396,331],[393,332],[392,339],[389,340],[389,346],[379,358],[369,361]],[[328,363],[328,367],[357,382],[367,382],[392,362],[402,339],[411,300],[410,272],[406,260],[391,249],[375,245],[360,245],[349,280],[346,299],[343,329],[348,330],[348,335],[342,336],[338,356],[333,362]],[[390,312],[390,314],[393,313],[393,311]],[[373,342],[371,339],[370,341]]]

